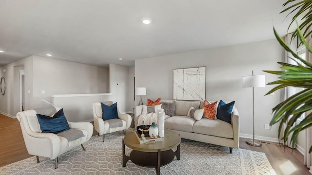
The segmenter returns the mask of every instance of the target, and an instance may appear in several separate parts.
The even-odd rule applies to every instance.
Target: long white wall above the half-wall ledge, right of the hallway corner
[[[52,102],[51,95],[109,91],[108,68],[34,56],[33,72],[34,106],[40,106],[42,99]]]

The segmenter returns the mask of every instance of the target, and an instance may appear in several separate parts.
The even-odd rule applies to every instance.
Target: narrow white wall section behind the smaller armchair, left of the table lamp
[[[129,67],[109,64],[110,93],[120,112],[132,111],[129,105]]]

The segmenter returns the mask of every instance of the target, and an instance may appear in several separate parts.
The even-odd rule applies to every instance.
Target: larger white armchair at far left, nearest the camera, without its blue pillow
[[[61,107],[55,107],[55,109],[56,111],[59,111]],[[92,123],[68,122],[69,128],[71,130],[71,133],[69,134],[75,135],[75,133],[78,131],[81,135],[80,131],[82,131],[83,136],[81,135],[81,137],[76,140],[67,140],[68,138],[66,138],[65,135],[58,136],[57,134],[53,133],[41,133],[36,114],[36,110],[26,110],[17,113],[17,119],[20,121],[20,127],[28,154],[36,156],[38,163],[39,156],[49,157],[51,159],[55,159],[55,168],[58,168],[58,156],[61,154],[73,149],[74,147],[77,147],[78,145],[81,145],[83,151],[85,151],[82,143],[90,140],[93,134]]]

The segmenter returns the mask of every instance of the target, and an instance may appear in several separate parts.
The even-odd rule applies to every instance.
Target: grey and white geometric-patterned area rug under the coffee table
[[[128,130],[130,132],[131,130]],[[122,132],[107,134],[105,142],[94,136],[59,156],[58,169],[50,158],[30,157],[0,168],[0,175],[156,175],[131,160],[122,167]],[[126,147],[126,155],[131,149]],[[180,160],[176,158],[160,168],[161,175],[275,175],[264,153],[181,139]]]

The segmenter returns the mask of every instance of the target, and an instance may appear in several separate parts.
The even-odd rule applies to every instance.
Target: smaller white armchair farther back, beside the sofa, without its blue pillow
[[[118,114],[118,119],[122,122],[122,126],[119,127],[111,127],[109,124],[109,120],[104,121],[102,119],[102,106],[101,103],[105,105],[112,105],[115,102],[97,102],[92,104],[92,109],[93,109],[93,119],[94,119],[94,128],[96,131],[98,131],[98,135],[101,136],[103,135],[103,142],[105,139],[105,134],[116,132],[116,131],[123,131],[125,134],[125,129],[128,129],[131,125],[132,118],[129,114],[122,114],[119,112],[118,107],[117,107],[117,114]]]

